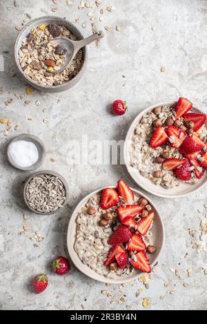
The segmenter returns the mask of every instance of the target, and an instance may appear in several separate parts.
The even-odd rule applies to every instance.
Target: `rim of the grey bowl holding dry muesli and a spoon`
[[[79,30],[79,28],[77,28],[77,26],[75,26],[74,23],[70,22],[67,19],[63,19],[63,18],[58,17],[58,16],[43,16],[43,17],[38,17],[38,18],[32,19],[31,21],[29,21],[28,23],[26,23],[26,25],[23,26],[23,28],[19,31],[19,34],[17,35],[17,39],[16,39],[15,44],[14,44],[14,59],[15,59],[15,62],[17,64],[17,68],[19,70],[19,73],[21,73],[21,75],[23,75],[23,77],[25,77],[30,84],[34,84],[34,88],[35,88],[35,86],[39,86],[42,89],[59,89],[59,88],[61,88],[63,86],[66,86],[66,84],[70,84],[72,82],[73,83],[76,83],[76,80],[77,80],[77,82],[79,81],[78,77],[79,77],[79,75],[81,73],[84,72],[84,69],[86,68],[86,65],[87,65],[87,61],[88,61],[88,49],[87,49],[87,46],[84,47],[83,64],[81,66],[81,69],[79,70],[79,73],[77,73],[77,75],[75,77],[73,77],[72,79],[70,79],[65,84],[59,84],[58,86],[43,86],[43,85],[39,84],[38,82],[34,82],[32,79],[30,79],[30,77],[28,77],[28,75],[26,75],[26,73],[24,73],[24,71],[22,70],[22,68],[20,66],[19,58],[18,58],[17,46],[19,44],[19,40],[21,38],[21,35],[23,34],[24,31],[26,31],[30,27],[30,25],[32,25],[32,23],[34,23],[36,21],[39,21],[40,22],[40,21],[45,20],[45,19],[58,20],[58,21],[61,21],[61,23],[64,23],[64,22],[68,23],[70,26],[72,26],[72,28],[74,28],[75,30],[77,30],[77,32],[82,37],[82,39],[84,39],[84,36],[83,36],[81,30]]]

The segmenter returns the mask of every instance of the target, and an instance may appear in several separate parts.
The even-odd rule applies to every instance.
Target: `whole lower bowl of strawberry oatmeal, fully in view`
[[[75,266],[103,283],[128,283],[150,273],[164,247],[164,224],[155,204],[119,180],[83,198],[68,225]]]

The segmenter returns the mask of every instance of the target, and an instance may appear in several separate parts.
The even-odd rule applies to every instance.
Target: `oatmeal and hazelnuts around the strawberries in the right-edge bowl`
[[[189,128],[190,122],[185,122],[185,116],[189,118],[188,115],[191,115],[192,119],[195,119],[195,117],[198,119],[201,118],[201,123],[203,123],[203,125],[198,131],[193,132],[193,128]],[[199,115],[201,115],[201,117]],[[184,160],[184,158],[188,158],[190,162],[190,166],[188,168],[190,171],[190,177],[187,177],[186,179],[188,180],[185,182],[188,184],[197,183],[204,175],[204,170],[206,169],[206,146],[204,145],[206,144],[207,130],[204,124],[205,121],[206,116],[204,114],[195,113],[188,113],[177,119],[175,107],[173,106],[161,106],[155,108],[154,111],[149,111],[141,118],[141,121],[137,123],[134,135],[132,136],[132,144],[130,145],[129,152],[131,166],[137,169],[142,176],[148,178],[154,184],[161,185],[161,187],[168,189],[177,187],[180,185],[181,180],[184,181],[182,177],[179,178],[179,175],[177,176],[175,174],[176,172],[174,165],[172,164],[175,163],[175,166],[177,166],[177,169],[179,169],[179,167],[181,167],[179,166],[179,162]],[[191,124],[191,126],[193,126],[193,124]],[[198,137],[202,142],[204,142],[204,145],[199,149],[199,154],[197,153],[197,149],[194,150],[196,152],[190,152],[192,156],[190,154],[184,154],[184,150],[181,150],[179,147],[172,146],[172,141],[176,142],[177,139],[175,139],[173,135],[169,136],[167,133],[168,140],[166,144],[151,147],[150,141],[157,127],[161,127],[165,133],[167,133],[168,129],[170,128],[180,132],[179,137],[181,137],[181,135],[186,137],[185,139],[183,137],[184,144],[187,142],[189,137],[193,138],[193,136],[196,136],[196,138]],[[181,144],[181,148],[184,146],[182,143],[179,144]],[[194,154],[197,154],[196,158]],[[168,160],[169,164],[171,164],[170,167],[165,168],[165,164],[168,163],[165,162],[166,160]]]

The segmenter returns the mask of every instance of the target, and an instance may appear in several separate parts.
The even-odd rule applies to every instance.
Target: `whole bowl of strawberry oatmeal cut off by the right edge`
[[[155,196],[188,196],[207,182],[206,138],[206,114],[188,99],[150,106],[137,115],[126,135],[126,167]]]

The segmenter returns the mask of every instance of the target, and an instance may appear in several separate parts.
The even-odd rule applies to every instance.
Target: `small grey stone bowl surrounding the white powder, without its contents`
[[[12,144],[14,142],[18,142],[20,140],[32,142],[35,146],[37,146],[39,158],[38,158],[37,162],[35,162],[34,164],[27,166],[27,167],[21,167],[21,166],[17,165],[12,160],[12,157],[10,156],[10,153],[9,153],[10,144]],[[45,150],[43,142],[39,139],[39,137],[37,137],[35,135],[30,135],[30,134],[21,134],[17,137],[14,137],[13,140],[11,140],[10,144],[8,144],[8,148],[7,148],[7,157],[8,157],[8,161],[10,162],[10,164],[12,166],[14,166],[14,168],[19,169],[21,171],[33,171],[33,170],[39,168],[39,166],[41,166],[41,164],[46,156],[46,150]]]

